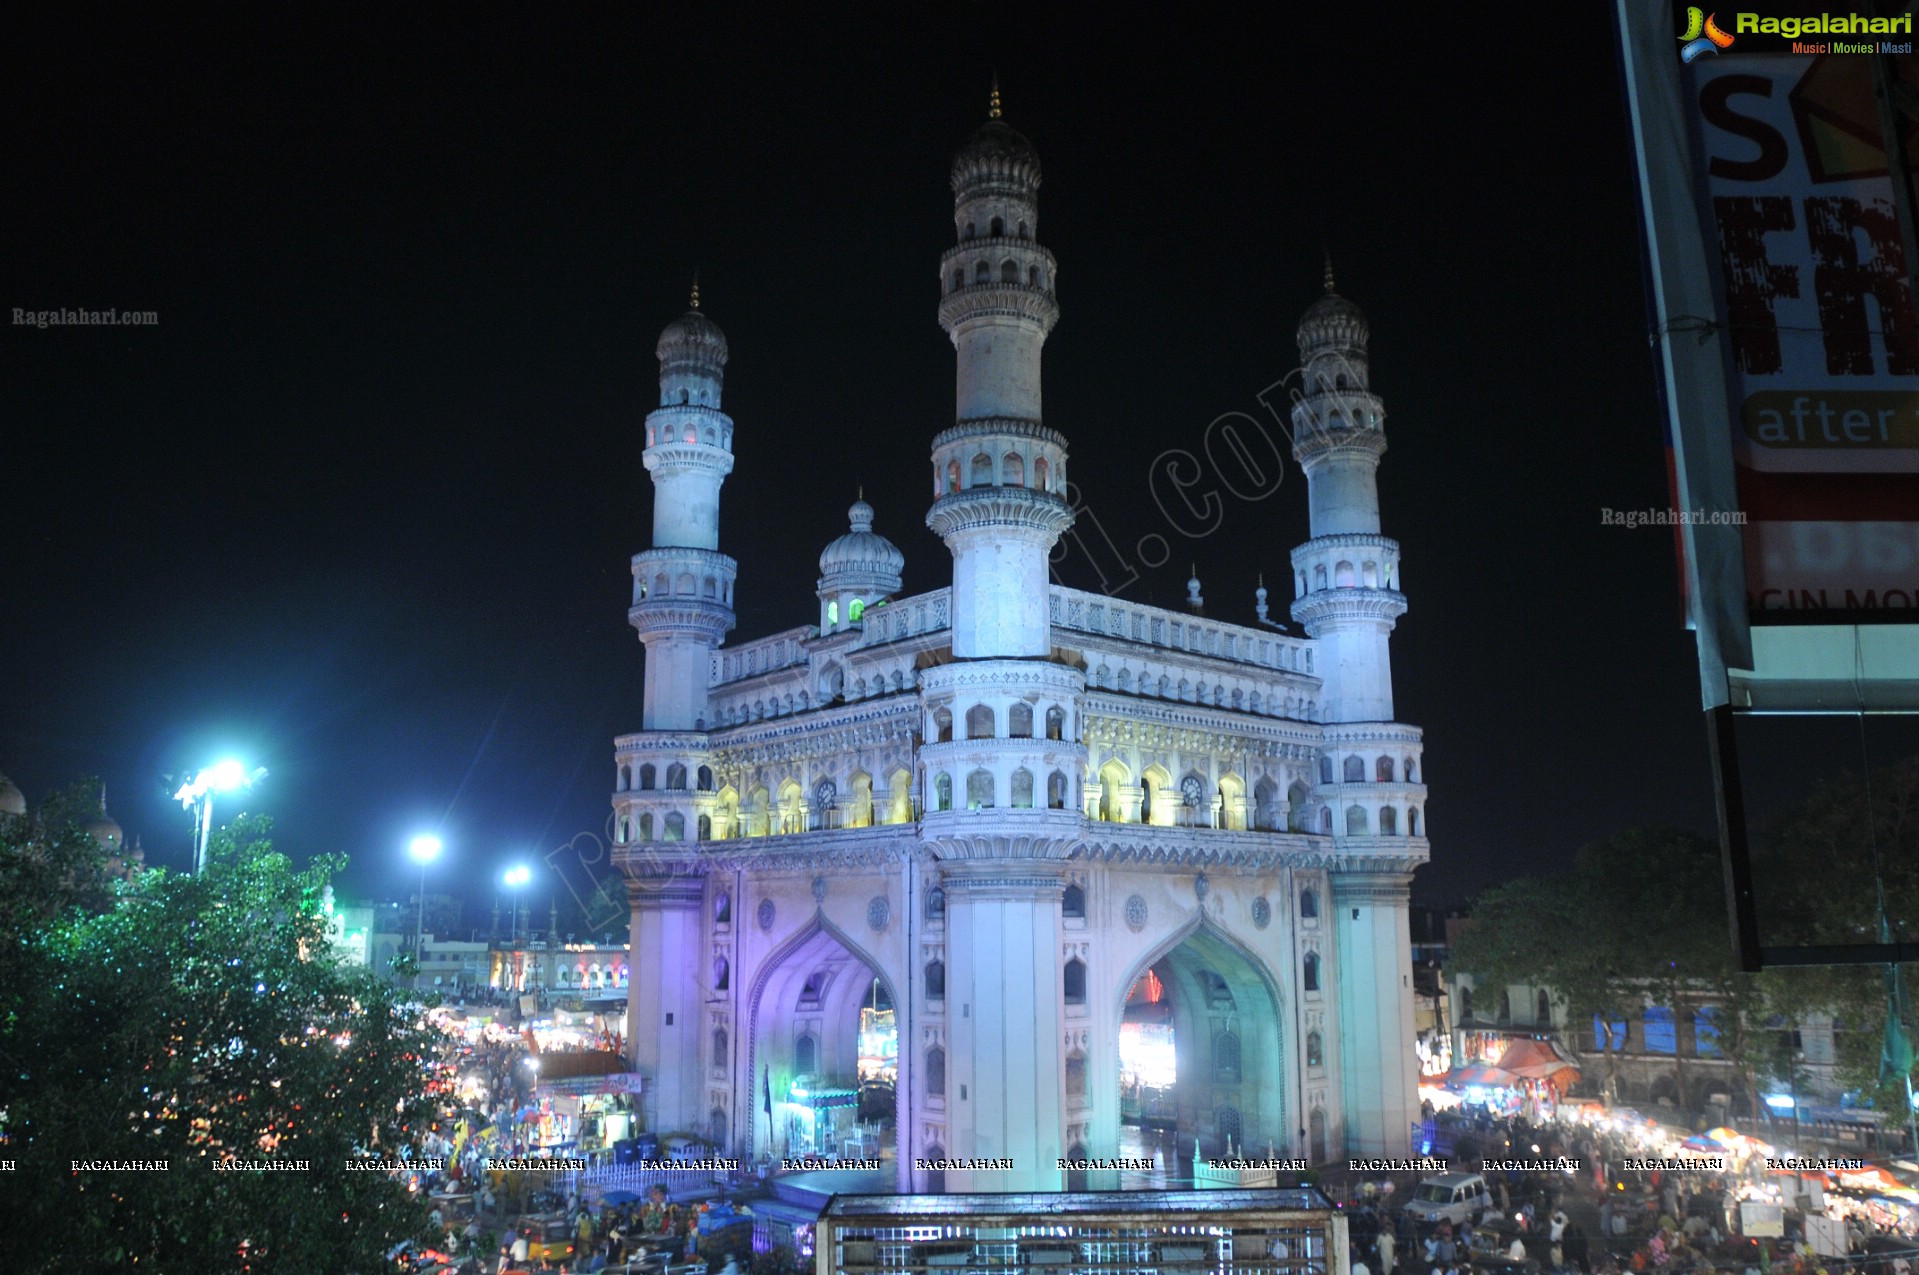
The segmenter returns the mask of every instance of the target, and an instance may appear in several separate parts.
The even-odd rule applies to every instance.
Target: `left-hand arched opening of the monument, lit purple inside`
[[[748,1008],[750,1154],[879,1158],[892,1146],[894,1006],[879,968],[825,922],[768,960]]]

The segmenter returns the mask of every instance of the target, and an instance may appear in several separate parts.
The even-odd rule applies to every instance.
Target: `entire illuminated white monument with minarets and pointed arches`
[[[925,517],[950,588],[902,597],[862,499],[819,559],[817,624],[723,645],[727,344],[697,292],[660,336],[629,613],[647,701],[612,795],[647,1121],[796,1152],[789,1104],[856,1083],[877,998],[902,1191],[1078,1185],[1059,1158],[1121,1154],[1121,1027],[1149,987],[1176,1052],[1153,1098],[1184,1146],[1403,1154],[1426,787],[1420,732],[1393,720],[1405,597],[1366,321],[1328,269],[1297,334],[1305,636],[1052,584],[1073,511],[1040,411],[1059,301],[1038,188],[996,98],[954,157],[940,257],[958,401]]]

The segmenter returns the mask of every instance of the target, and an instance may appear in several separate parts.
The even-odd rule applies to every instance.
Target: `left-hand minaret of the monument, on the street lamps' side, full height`
[[[700,1031],[704,881],[677,870],[674,841],[704,839],[714,814],[706,751],[712,653],[733,628],[737,565],[720,553],[720,484],[733,470],[733,421],[720,411],[727,346],[693,305],[666,325],[660,405],[647,413],[652,547],[633,555],[628,620],[647,645],[643,730],[616,749],[614,866],[633,908],[631,960],[656,977],[628,983],[631,1066],[652,1129],[706,1116]]]

